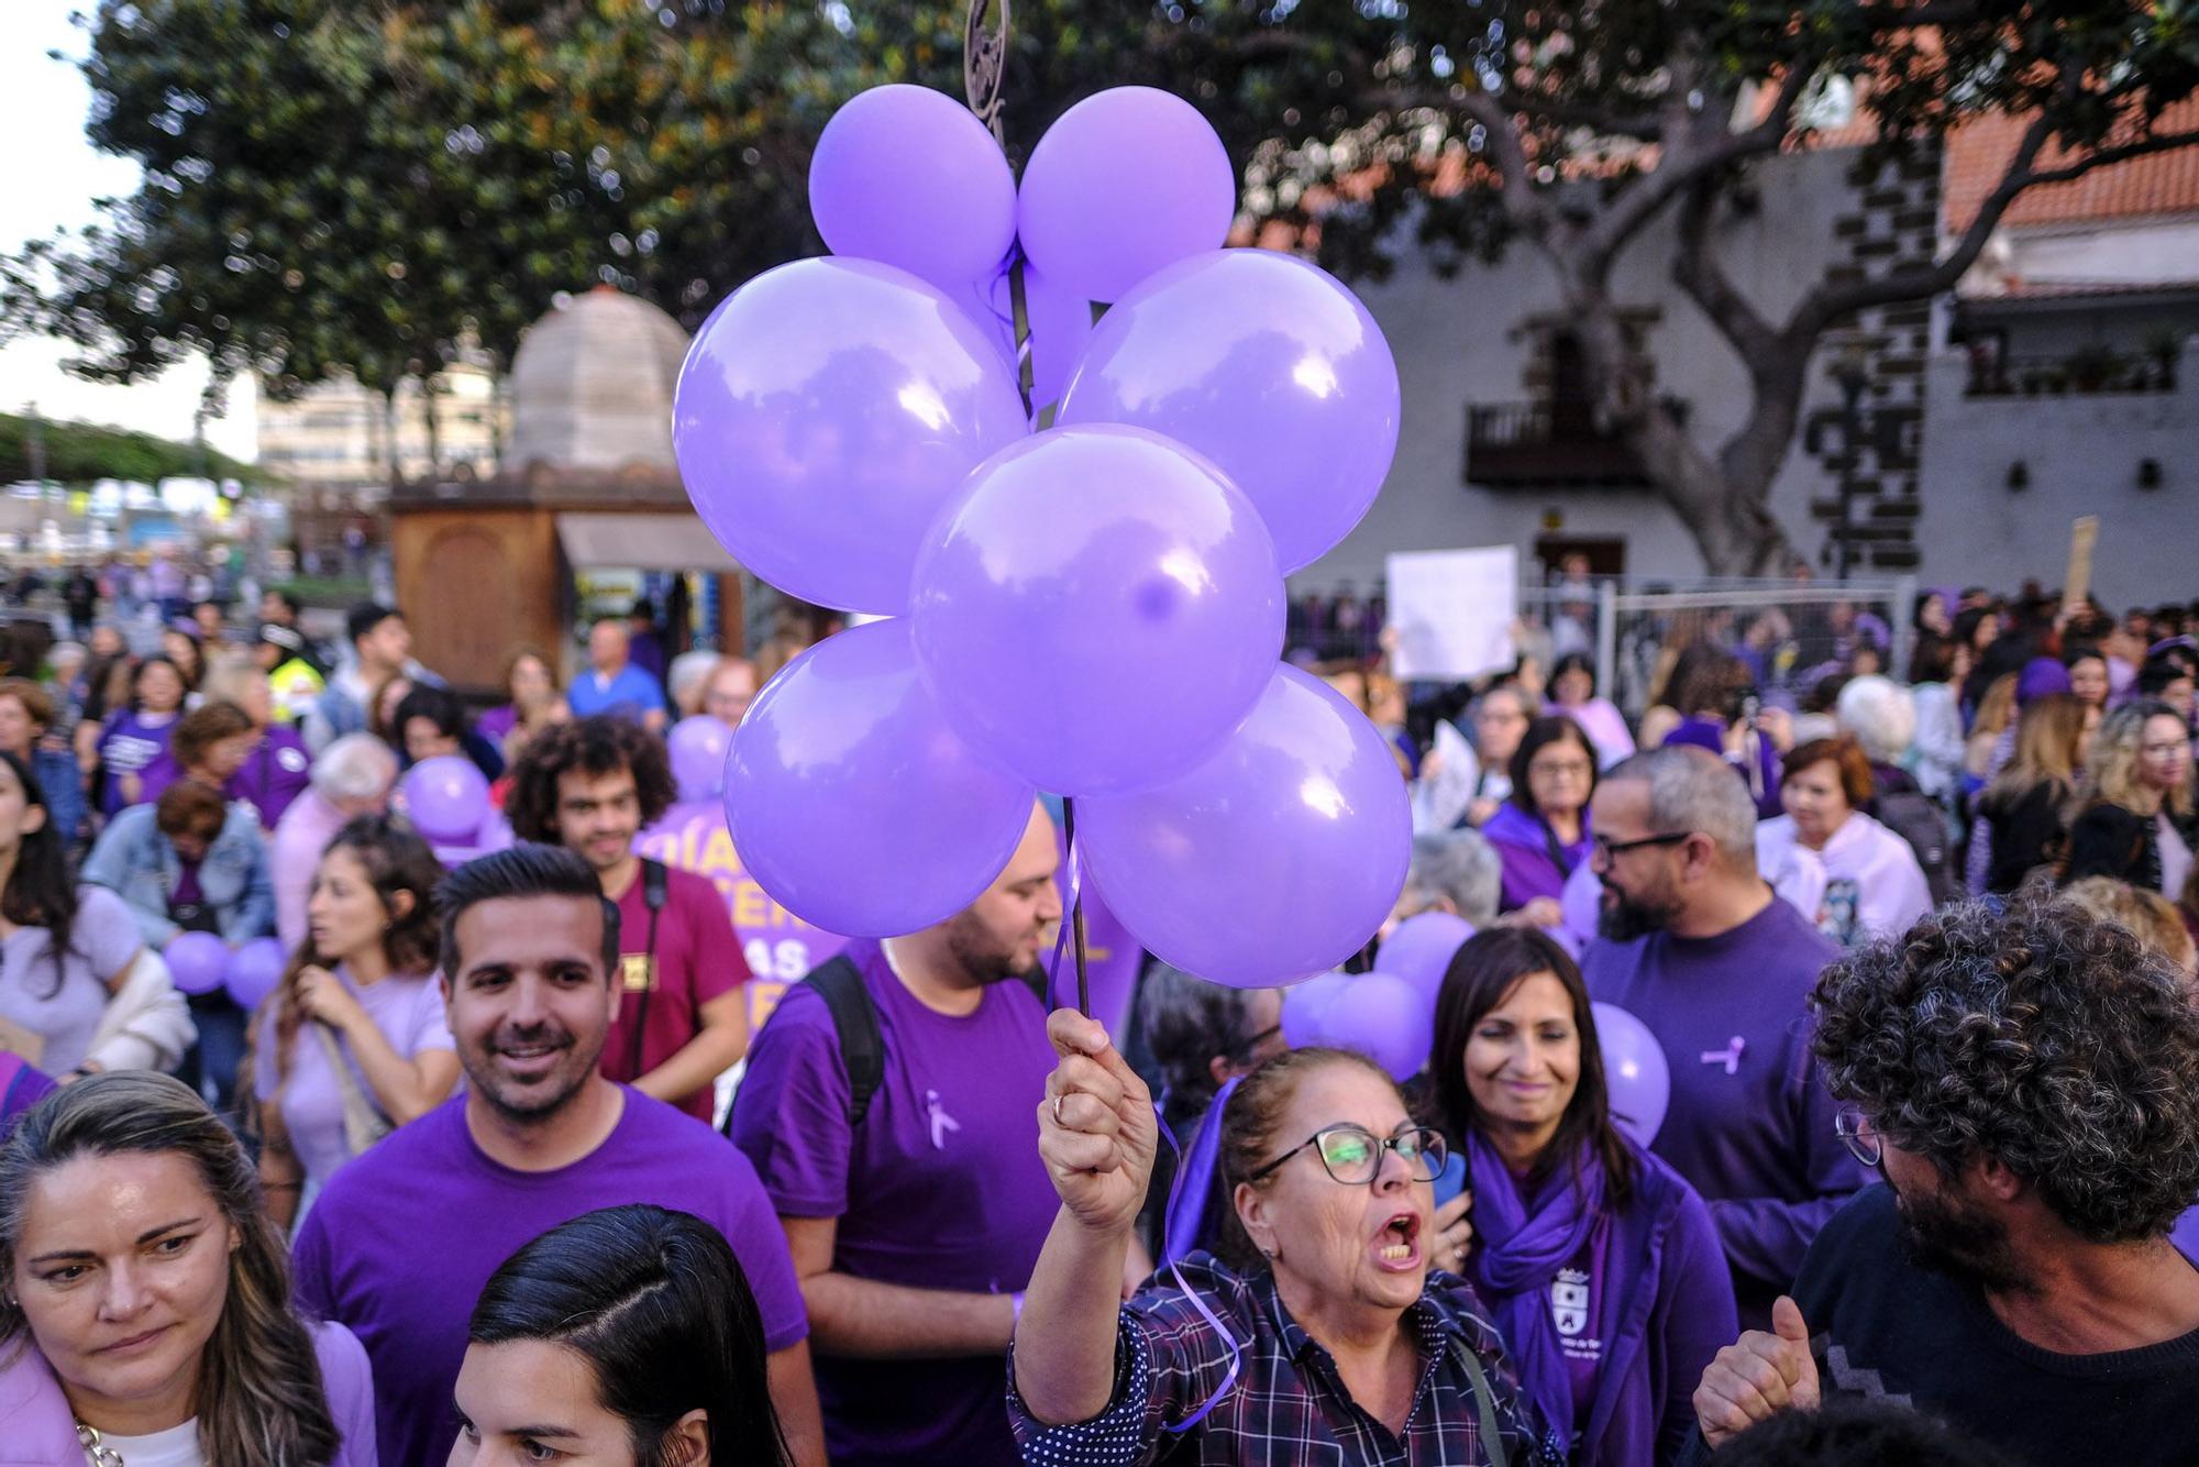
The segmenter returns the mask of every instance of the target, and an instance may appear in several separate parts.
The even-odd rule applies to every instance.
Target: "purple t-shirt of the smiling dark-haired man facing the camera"
[[[367,1346],[385,1467],[449,1456],[451,1388],[482,1284],[523,1243],[583,1212],[655,1203],[704,1218],[741,1260],[765,1346],[783,1350],[809,1333],[787,1238],[748,1157],[693,1117],[620,1093],[627,1108],[609,1139],[554,1172],[490,1161],[457,1095],[336,1172],[306,1214],[297,1306]]]

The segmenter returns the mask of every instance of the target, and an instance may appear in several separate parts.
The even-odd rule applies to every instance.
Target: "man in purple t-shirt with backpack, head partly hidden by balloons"
[[[1056,864],[1053,825],[1034,809],[968,911],[847,948],[884,1047],[860,1122],[807,981],[750,1049],[732,1139],[787,1229],[833,1467],[1016,1460],[1005,1355],[1058,1210],[1031,1148],[1053,1047],[1016,974],[1060,922]]]

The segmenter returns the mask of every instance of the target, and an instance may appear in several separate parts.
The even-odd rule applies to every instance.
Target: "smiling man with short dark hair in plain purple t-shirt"
[[[822,1467],[800,1284],[754,1168],[598,1071],[620,992],[618,908],[596,873],[572,851],[517,845],[453,871],[435,906],[466,1089],[336,1172],[295,1249],[299,1309],[350,1326],[374,1361],[385,1467],[449,1456],[466,1317],[497,1265],[620,1203],[693,1212],[726,1234],[763,1313],[794,1460]]]

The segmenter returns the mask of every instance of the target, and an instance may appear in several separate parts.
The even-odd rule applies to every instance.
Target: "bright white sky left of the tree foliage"
[[[99,218],[92,200],[128,196],[139,167],[128,158],[97,152],[84,139],[92,97],[70,62],[48,59],[86,53],[86,33],[70,24],[84,0],[0,0],[7,37],[0,40],[0,251],[15,251],[59,227],[84,227]],[[161,438],[189,440],[191,413],[207,385],[205,361],[178,363],[158,378],[114,387],[68,376],[62,363],[75,348],[51,339],[24,339],[0,348],[0,411],[37,411],[57,420],[108,422],[143,429]],[[207,442],[231,457],[255,451],[255,394],[251,385],[229,391],[226,411],[207,420]]]

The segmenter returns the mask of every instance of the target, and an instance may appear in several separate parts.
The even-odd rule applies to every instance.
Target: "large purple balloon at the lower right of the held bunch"
[[[1264,988],[1366,946],[1405,886],[1412,809],[1366,715],[1282,666],[1251,717],[1183,779],[1078,801],[1078,842],[1154,957]]]

